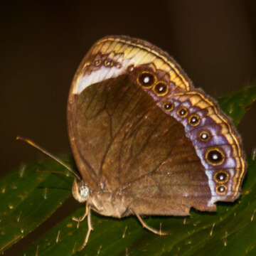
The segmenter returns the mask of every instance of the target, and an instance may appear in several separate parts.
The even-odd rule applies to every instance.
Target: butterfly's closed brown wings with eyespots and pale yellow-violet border
[[[233,124],[145,41],[92,46],[70,90],[68,129],[91,191],[122,196],[137,213],[215,210],[240,194],[245,159]]]

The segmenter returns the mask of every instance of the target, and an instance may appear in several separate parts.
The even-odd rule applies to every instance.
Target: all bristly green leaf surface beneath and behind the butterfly
[[[219,102],[238,124],[255,100],[256,87],[249,87]],[[78,252],[87,221],[77,228],[72,217],[83,215],[82,206],[22,255],[255,255],[256,161],[248,162],[242,196],[235,203],[218,203],[217,213],[192,210],[187,218],[144,218],[154,228],[162,223],[162,230],[170,235],[160,237],[144,230],[133,216],[118,220],[92,213],[94,231],[85,249]],[[23,167],[0,181],[2,251],[43,223],[70,196],[72,178],[44,170],[63,171],[63,167],[44,161]]]

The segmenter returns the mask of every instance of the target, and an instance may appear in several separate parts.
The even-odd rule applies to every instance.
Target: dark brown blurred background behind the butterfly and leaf
[[[53,154],[70,153],[70,82],[87,50],[103,36],[128,35],[154,43],[181,64],[196,87],[215,98],[255,81],[255,1],[60,3],[20,1],[0,7],[0,176],[46,157],[16,141],[16,135]],[[256,145],[255,124],[254,105],[238,127],[247,154]]]

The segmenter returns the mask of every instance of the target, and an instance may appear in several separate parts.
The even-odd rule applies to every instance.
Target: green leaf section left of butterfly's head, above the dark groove
[[[0,252],[38,227],[70,196],[73,178],[53,160],[21,166],[0,181]],[[63,172],[64,173],[64,172]]]

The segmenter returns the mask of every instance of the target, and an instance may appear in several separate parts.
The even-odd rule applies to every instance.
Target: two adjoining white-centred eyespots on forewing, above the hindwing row
[[[157,96],[164,96],[168,93],[169,87],[166,82],[158,81],[156,75],[149,71],[142,71],[137,77],[139,85],[146,89],[152,89]]]

